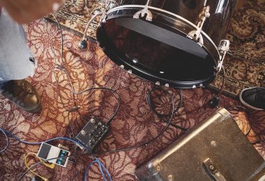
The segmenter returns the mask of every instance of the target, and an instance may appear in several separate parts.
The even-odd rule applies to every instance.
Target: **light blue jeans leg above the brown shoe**
[[[0,82],[33,77],[36,65],[22,26],[3,8],[0,15]]]

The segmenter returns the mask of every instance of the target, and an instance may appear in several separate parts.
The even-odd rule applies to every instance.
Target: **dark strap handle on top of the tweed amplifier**
[[[211,176],[211,178],[213,178],[213,180],[215,180],[215,181],[227,181],[225,179],[225,177],[220,173],[220,171],[218,171],[217,167],[213,164],[211,159],[209,159],[209,158],[206,159],[203,162],[203,166],[204,166],[206,173],[208,173],[209,176]]]

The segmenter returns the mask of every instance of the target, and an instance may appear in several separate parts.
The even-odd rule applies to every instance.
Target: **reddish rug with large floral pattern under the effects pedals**
[[[70,123],[73,125],[73,132],[77,134],[92,115],[106,122],[117,106],[112,93],[89,91],[76,95],[76,102],[73,102],[66,74],[58,65],[61,45],[58,27],[39,20],[25,25],[24,29],[28,45],[38,59],[36,74],[28,80],[38,90],[43,110],[35,114],[27,113],[0,95],[0,127],[24,141],[45,141],[59,136],[69,137],[72,133]],[[165,127],[165,123],[162,123],[146,104],[146,94],[153,86],[151,83],[128,74],[116,66],[95,43],[89,42],[88,49],[80,51],[79,36],[64,30],[63,39],[62,59],[76,92],[87,88],[105,87],[112,88],[121,95],[121,107],[110,125],[111,132],[96,152],[128,148],[144,143]],[[174,92],[174,89],[170,90]],[[213,95],[206,89],[183,91],[183,106],[175,113],[173,123],[189,129],[202,122],[215,111],[209,108],[209,100]],[[167,99],[156,102],[163,103],[158,104],[159,110],[169,109],[169,104],[166,104]],[[78,111],[66,111],[75,107],[75,104],[79,106]],[[228,108],[234,105],[240,105],[240,102],[222,95],[220,107]],[[231,111],[231,113],[242,132],[246,133],[250,127],[248,115],[244,111]],[[265,139],[265,112],[250,110],[250,116],[253,125],[248,135],[249,141]],[[156,141],[144,147],[105,155],[97,154],[97,156],[112,175],[113,180],[135,180],[134,171],[137,166],[182,134],[181,130],[169,127]],[[55,141],[51,144],[58,145],[58,143],[68,146],[72,155],[74,154],[73,143]],[[0,148],[3,148],[4,144],[5,139],[0,134]],[[8,150],[0,154],[0,180],[17,180],[26,169],[25,155],[37,152],[38,148],[38,145],[25,145],[10,138]],[[265,159],[265,143],[257,144],[255,148]],[[81,150],[77,149],[77,154],[80,152]],[[38,162],[33,157],[29,159],[31,164]],[[83,180],[84,171],[90,162],[91,157],[85,155],[77,157],[76,160],[71,159],[66,168],[55,166],[52,169],[41,164],[35,171],[49,180]],[[27,173],[24,180],[31,180],[32,177],[32,173]],[[91,167],[88,180],[103,180],[97,165]]]

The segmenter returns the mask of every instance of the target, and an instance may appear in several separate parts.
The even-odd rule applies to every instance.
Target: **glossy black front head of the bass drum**
[[[185,33],[156,19],[107,19],[98,28],[97,39],[112,61],[161,85],[194,88],[215,78],[213,56]]]

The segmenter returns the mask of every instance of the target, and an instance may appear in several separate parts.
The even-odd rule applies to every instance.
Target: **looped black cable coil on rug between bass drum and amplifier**
[[[147,93],[147,96],[146,96],[146,102],[147,102],[147,104],[149,105],[151,111],[153,111],[153,113],[155,113],[156,116],[158,116],[158,118],[160,118],[163,122],[168,123],[168,121],[164,120],[164,116],[170,116],[170,113],[165,113],[165,114],[158,113],[158,111],[156,111],[156,109],[155,109],[155,107],[154,107],[154,105],[153,105],[153,102],[151,101],[151,93],[152,93],[152,92],[155,93],[155,91],[154,91],[155,88],[156,88],[156,86],[153,86],[153,88],[151,88],[151,90]],[[161,88],[161,90],[164,91],[164,92],[166,92],[165,89],[162,89],[162,88]],[[179,93],[179,92],[177,92],[177,93],[179,93],[179,96],[180,96],[180,98],[181,98],[181,102],[179,103],[179,106],[176,107],[176,110],[178,110],[179,107],[181,107],[182,104],[183,104],[183,93],[182,93],[181,89],[180,89],[179,91],[180,91],[181,93]],[[174,112],[176,112],[176,110],[174,110]],[[181,129],[181,130],[183,130],[184,132],[188,130],[188,129],[184,128],[184,127],[180,127],[179,125],[174,125],[173,123],[170,123],[170,125],[173,126],[173,127],[175,127],[176,129]]]

